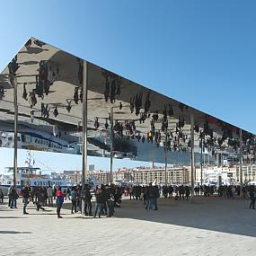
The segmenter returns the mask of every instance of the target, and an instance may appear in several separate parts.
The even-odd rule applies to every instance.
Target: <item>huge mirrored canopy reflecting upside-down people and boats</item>
[[[190,164],[191,114],[196,163],[201,146],[213,163],[240,154],[240,128],[34,38],[0,75],[0,146],[13,147],[15,83],[20,148],[81,154],[87,85],[88,155],[110,157],[111,109],[116,158],[164,163],[166,148],[168,163]],[[255,136],[245,130],[243,157],[255,161]]]

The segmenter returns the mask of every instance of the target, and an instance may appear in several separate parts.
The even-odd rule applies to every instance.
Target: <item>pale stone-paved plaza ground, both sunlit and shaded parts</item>
[[[150,212],[125,199],[112,218],[28,212],[0,204],[0,255],[256,255],[256,210],[243,199],[160,199]]]

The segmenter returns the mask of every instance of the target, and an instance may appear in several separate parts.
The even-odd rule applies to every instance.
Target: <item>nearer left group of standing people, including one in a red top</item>
[[[79,185],[75,187],[61,189],[60,187],[31,187],[29,182],[26,182],[25,187],[17,191],[15,186],[10,186],[8,189],[8,207],[17,208],[17,199],[22,198],[23,202],[23,214],[29,214],[27,212],[27,206],[31,204],[35,205],[36,210],[45,210],[45,207],[57,207],[57,217],[62,218],[60,215],[61,207],[66,199],[71,201],[71,214],[75,214],[80,211],[85,216],[102,215],[111,217],[114,215],[114,208],[120,207],[122,190],[119,186],[114,184],[101,185],[94,190],[88,184],[85,184],[84,190]],[[93,195],[95,197],[95,211],[93,214]],[[1,203],[4,203],[4,192],[0,189]],[[78,210],[79,209],[79,210]]]

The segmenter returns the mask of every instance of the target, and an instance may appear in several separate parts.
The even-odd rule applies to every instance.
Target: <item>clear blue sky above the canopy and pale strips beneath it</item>
[[[34,36],[256,133],[255,13],[254,0],[3,0],[0,69]],[[11,153],[0,150],[0,172]],[[37,157],[50,168],[81,166],[79,156],[56,155]]]

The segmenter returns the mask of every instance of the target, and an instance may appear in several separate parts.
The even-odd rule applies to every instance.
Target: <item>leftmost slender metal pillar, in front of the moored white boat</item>
[[[13,108],[14,108],[14,154],[13,154],[13,186],[17,183],[17,158],[18,158],[18,99],[17,78],[13,79]]]

